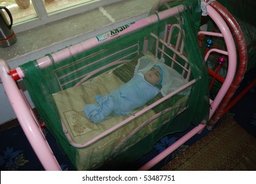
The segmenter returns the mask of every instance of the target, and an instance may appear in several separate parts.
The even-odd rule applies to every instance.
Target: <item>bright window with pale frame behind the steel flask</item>
[[[17,33],[118,1],[122,0],[0,0],[0,6],[11,12]]]

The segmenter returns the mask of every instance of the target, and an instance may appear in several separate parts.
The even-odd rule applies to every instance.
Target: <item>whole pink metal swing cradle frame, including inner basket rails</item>
[[[159,1],[159,3],[157,3],[153,7],[152,11],[157,11],[159,5],[164,4],[164,3],[168,3],[168,1]],[[240,49],[239,53],[236,53],[236,45],[234,42],[234,37],[232,36],[232,33],[240,32],[239,26],[236,24],[236,21],[234,20],[234,18],[232,18],[232,16],[230,14],[227,14],[226,10],[223,7],[221,7],[220,5],[218,5],[217,2],[210,3],[210,4],[202,2],[202,7],[203,7],[203,9],[205,9],[204,11],[207,12],[207,15],[215,22],[215,24],[217,24],[217,27],[220,30],[220,32],[217,33],[217,32],[208,32],[205,30],[201,30],[201,32],[199,32],[199,35],[210,35],[213,37],[223,37],[224,41],[226,43],[226,50],[223,51],[220,49],[210,49],[207,52],[207,54],[205,55],[205,60],[208,59],[208,57],[209,57],[209,55],[211,55],[211,53],[220,53],[222,55],[226,55],[228,57],[228,73],[226,75],[226,78],[224,80],[222,87],[220,88],[220,91],[217,94],[217,97],[215,97],[215,99],[213,99],[209,102],[210,109],[209,109],[208,122],[207,122],[207,120],[204,120],[203,122],[201,122],[201,124],[199,124],[199,126],[192,129],[192,131],[190,131],[184,137],[182,137],[181,139],[176,141],[176,143],[174,143],[173,145],[168,147],[168,149],[161,152],[161,154],[159,154],[158,156],[153,158],[147,164],[142,166],[139,170],[149,170],[150,168],[155,166],[155,164],[157,164],[158,162],[163,160],[166,156],[168,156],[168,154],[170,154],[171,152],[176,150],[178,147],[180,147],[180,145],[182,145],[183,143],[188,141],[188,139],[193,137],[193,135],[200,133],[200,131],[202,131],[207,125],[209,126],[209,128],[213,127],[215,125],[215,123],[217,122],[217,120],[219,120],[219,118],[220,118],[218,116],[218,113],[217,114],[215,114],[215,113],[222,112],[222,110],[224,108],[223,104],[222,104],[222,100],[223,99],[224,99],[224,101],[230,100],[230,96],[232,97],[232,94],[234,94],[236,87],[238,87],[240,81],[243,78],[243,71],[240,72],[241,71],[240,68],[241,67],[243,68],[242,65],[246,65],[246,57],[244,57],[244,56],[240,57],[240,63],[242,63],[242,64],[238,64],[238,66],[237,66],[237,56],[241,55],[241,53],[242,53],[242,55],[243,55],[243,53],[245,53],[244,52],[245,48],[243,48],[243,36],[241,34],[239,40],[237,40],[237,38],[235,38],[235,41],[238,42],[238,47]],[[143,27],[145,27],[149,24],[152,24],[154,22],[157,22],[158,20],[162,20],[162,19],[168,18],[170,16],[175,16],[182,9],[184,9],[184,7],[182,5],[180,5],[178,7],[173,7],[173,8],[167,9],[166,11],[158,12],[158,15],[153,14],[147,18],[138,20],[137,22],[132,24],[132,26],[126,28],[122,32],[119,32],[118,35],[113,35],[112,37],[108,37],[107,39],[104,39],[102,41],[99,41],[97,39],[97,37],[93,37],[91,39],[83,41],[82,43],[78,43],[77,45],[72,45],[66,49],[58,51],[57,53],[53,53],[51,55],[51,57],[53,58],[53,60],[56,63],[61,62],[65,58],[69,58],[69,57],[72,57],[73,55],[82,53],[83,51],[86,51],[87,49],[90,49],[91,47],[95,47],[97,45],[100,45],[101,43],[114,40],[114,39],[116,39],[116,37],[120,37],[122,35],[129,34],[130,32],[139,30],[140,28],[143,28]],[[226,22],[228,22],[228,25],[226,24]],[[230,28],[231,28],[231,31],[230,31]],[[157,37],[157,35],[154,35],[154,34],[151,34],[151,35],[153,37],[155,37],[155,39],[157,39],[157,41],[162,41]],[[163,45],[168,47],[168,41],[167,42],[162,41],[162,43],[163,43]],[[157,49],[161,49],[161,48],[157,48]],[[181,53],[182,53],[182,51],[181,51]],[[50,57],[39,58],[37,60],[37,62],[38,62],[39,68],[46,68],[47,66],[51,66],[51,64],[53,64],[52,59]],[[111,65],[114,65],[116,63],[120,64],[121,62],[120,62],[120,60],[117,60],[116,62],[114,62],[110,65],[107,65],[106,68]],[[20,91],[16,85],[17,80],[20,80],[21,78],[25,77],[24,73],[22,72],[22,70],[20,68],[15,68],[15,69],[11,70],[9,68],[7,62],[5,62],[4,60],[1,60],[1,62],[0,62],[0,70],[1,70],[1,73],[0,73],[1,81],[3,83],[3,86],[5,88],[7,96],[9,98],[9,101],[11,102],[11,105],[13,106],[16,117],[18,118],[18,121],[20,122],[20,126],[22,127],[22,129],[24,130],[24,133],[28,137],[28,140],[29,140],[30,144],[32,145],[34,151],[36,152],[41,164],[43,165],[45,170],[61,170],[59,163],[57,162],[55,156],[53,155],[53,152],[51,151],[51,148],[49,147],[47,140],[45,139],[45,137],[41,131],[41,127],[38,125],[38,120],[37,120],[36,116],[34,115],[34,112],[32,111],[30,104],[28,104],[26,97],[24,97],[22,91]],[[186,70],[187,70],[186,75],[189,76],[190,75],[189,68]],[[238,70],[238,72],[237,72],[237,70]],[[94,71],[94,72],[97,72],[97,71]],[[90,77],[93,74],[94,73],[88,74],[88,76],[86,76],[82,81],[86,80],[88,77]],[[236,78],[239,78],[239,80],[236,80]],[[234,79],[235,79],[235,81],[234,81]],[[80,83],[82,83],[82,81]],[[182,86],[182,88],[177,89],[174,93],[178,93],[179,91],[182,91],[182,89],[185,89],[189,85],[192,85],[192,83],[194,83],[194,82],[195,82],[195,80],[189,81],[189,83],[187,83],[187,85],[184,85],[184,86]],[[234,82],[236,83],[236,87],[232,86],[232,83],[234,83]],[[80,83],[78,83],[78,84],[80,84]],[[231,95],[229,94],[230,90],[232,93]],[[169,95],[166,95],[166,97],[163,97],[163,99],[161,99],[160,101],[157,101],[157,103],[161,103],[162,101],[165,101],[172,95],[173,95],[172,93],[170,93]],[[136,116],[140,116],[140,114],[143,114],[143,112],[146,112],[148,109],[152,108],[156,104],[151,104],[150,106],[147,106],[147,108],[140,110],[138,113],[136,113]],[[220,106],[220,104],[222,104],[222,106]],[[70,137],[68,137],[68,139],[70,139],[70,143],[76,147],[85,147],[86,145],[89,145],[89,144],[97,141],[97,139],[101,139],[101,137],[105,137],[110,132],[115,131],[116,129],[123,126],[124,124],[127,124],[128,122],[130,122],[130,120],[136,118],[136,116],[131,116],[130,118],[124,120],[120,124],[113,126],[111,129],[108,129],[107,131],[104,131],[103,133],[101,133],[100,135],[95,137],[95,139],[92,139],[82,145],[72,143],[72,140],[71,140],[72,138],[70,138]],[[140,128],[140,127],[138,127],[138,128]]]

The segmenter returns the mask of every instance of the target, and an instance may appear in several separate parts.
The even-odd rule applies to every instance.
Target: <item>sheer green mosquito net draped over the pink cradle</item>
[[[160,116],[157,120],[157,124],[161,126],[157,126],[152,133],[145,135],[143,139],[138,141],[132,147],[125,149],[120,145],[118,150],[116,150],[115,156],[105,156],[106,159],[104,162],[111,162],[112,164],[132,162],[133,160],[140,158],[143,154],[149,152],[154,143],[165,135],[185,131],[190,124],[197,126],[202,120],[208,120],[209,80],[205,62],[203,61],[202,53],[199,50],[197,41],[197,32],[199,31],[201,21],[200,3],[201,2],[197,0],[171,1],[168,4],[161,5],[158,11],[161,12],[177,5],[184,5],[186,11],[180,12],[180,14],[167,18],[166,20],[159,20],[155,24],[151,24],[150,26],[141,28],[130,34],[117,36],[112,41],[105,42],[61,62],[55,63],[52,59],[53,64],[47,68],[40,69],[36,60],[20,66],[26,76],[24,78],[24,83],[39,115],[43,122],[45,122],[47,129],[49,129],[51,134],[56,138],[63,153],[68,155],[71,162],[78,170],[85,169],[78,166],[79,163],[77,161],[78,152],[82,149],[70,145],[66,138],[66,135],[63,132],[61,116],[57,104],[55,103],[55,99],[53,98],[53,94],[72,88],[88,72],[110,64],[114,60],[123,58],[124,55],[126,55],[126,58],[123,58],[124,60],[132,60],[133,58],[138,57],[138,55],[143,52],[143,42],[145,37],[148,39],[149,43],[147,47],[148,51],[155,55],[155,41],[151,39],[151,33],[163,37],[162,33],[165,30],[166,24],[180,24],[184,29],[182,37],[184,37],[184,51],[189,60],[191,69],[190,80],[196,79],[196,82],[190,89],[191,91],[188,95],[188,101],[184,104],[185,106],[188,106],[188,108],[180,114],[177,113],[175,116],[169,117],[169,122],[165,124],[163,124],[164,119]],[[157,15],[157,12],[151,12],[151,14]],[[134,22],[131,24],[134,24]],[[130,24],[126,25],[126,27],[129,25]],[[173,39],[176,39],[175,36]],[[136,47],[132,47],[132,45],[136,45]],[[121,50],[124,51],[118,52]],[[139,53],[137,52],[138,50]],[[115,55],[113,55],[113,53],[115,53]],[[52,58],[51,53],[47,56]],[[94,64],[95,60],[100,60],[100,62]],[[168,58],[166,58],[166,60],[168,60]],[[102,70],[100,73],[91,75],[88,80],[113,67],[114,66],[109,66],[109,68]],[[178,72],[181,71],[178,67],[176,70]],[[67,73],[68,76],[66,76]],[[59,80],[57,80],[57,78],[59,78]],[[175,99],[178,101],[179,97],[180,95],[178,94],[172,97],[172,99],[174,99],[172,100],[172,105],[175,106]],[[165,103],[168,105],[168,101]],[[159,108],[162,108],[162,106],[159,105]],[[178,111],[179,110],[180,109],[178,108]],[[140,133],[140,131],[138,133]],[[131,138],[131,140],[134,139]],[[129,142],[130,139],[127,139],[126,141]],[[122,151],[123,149],[126,151]],[[87,160],[92,160],[91,156]],[[79,157],[81,157],[81,155]]]

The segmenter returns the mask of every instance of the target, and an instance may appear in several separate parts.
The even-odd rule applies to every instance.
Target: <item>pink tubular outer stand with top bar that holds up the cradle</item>
[[[135,24],[132,24],[129,28],[127,28],[123,32],[120,32],[118,36],[143,28],[149,24],[157,22],[159,19],[163,20],[165,18],[168,18],[169,16],[174,16],[175,14],[178,14],[178,12],[181,11],[182,9],[183,9],[183,6],[178,6],[163,12],[159,12],[158,16],[152,15],[142,20],[138,20],[138,22],[136,22]],[[228,68],[227,78],[224,84],[222,85],[222,88],[220,89],[220,93],[218,93],[217,98],[211,103],[211,110],[210,110],[210,117],[209,117],[211,118],[211,116],[213,116],[213,113],[217,109],[218,105],[220,104],[220,101],[222,101],[224,95],[226,94],[226,91],[230,87],[230,84],[232,83],[232,80],[234,78],[234,75],[236,72],[236,48],[234,45],[234,40],[232,38],[232,35],[230,34],[230,31],[228,29],[228,26],[226,26],[226,23],[218,14],[218,12],[215,11],[215,9],[211,7],[211,5],[207,6],[207,12],[209,16],[211,16],[211,18],[217,23],[218,28],[220,28],[221,30],[221,35],[224,37],[227,48],[228,48],[227,54],[229,57],[228,60],[230,62],[230,64],[228,64],[229,68]],[[104,43],[105,41],[109,41],[115,38],[116,36],[113,36],[107,40],[103,40],[100,42],[97,40],[96,37],[93,37],[91,39],[88,39],[87,41],[78,43],[77,45],[72,45],[66,49],[58,51],[57,53],[53,53],[52,58],[54,62],[60,62],[65,58],[72,57],[72,55],[77,55],[82,51],[86,51],[89,48],[95,47],[97,45],[100,45],[101,43]],[[38,59],[38,66],[40,68],[45,68],[51,65],[52,62],[53,61],[51,60],[51,58],[43,57]],[[61,167],[59,166],[59,163],[57,162],[55,156],[53,155],[53,152],[51,151],[51,148],[49,147],[47,140],[45,139],[40,127],[38,126],[38,124],[36,124],[36,120],[34,119],[34,116],[31,114],[30,108],[26,104],[26,100],[24,100],[24,98],[22,97],[22,94],[20,93],[15,81],[13,80],[13,78],[9,73],[10,73],[10,69],[9,69],[9,66],[7,65],[7,62],[5,62],[4,60],[0,60],[0,78],[3,83],[3,87],[7,93],[7,97],[9,98],[11,105],[13,106],[16,117],[20,122],[20,126],[22,127],[24,133],[26,134],[26,137],[28,137],[28,141],[32,145],[32,148],[36,152],[36,155],[38,156],[45,170],[61,170]],[[24,78],[24,74],[22,70],[20,70],[20,68],[16,68],[16,73],[20,78]],[[168,97],[166,97],[166,99],[167,98]],[[165,99],[161,99],[161,100],[164,101]],[[143,113],[142,111],[138,113],[139,114]],[[180,145],[185,143],[188,139],[193,137],[193,135],[199,133],[203,128],[205,128],[206,122],[207,121],[201,122],[199,126],[192,129],[192,131],[190,131],[187,135],[185,135],[176,143],[174,143],[174,145],[171,145],[164,152],[162,152],[161,154],[153,158],[153,160],[149,161],[147,164],[142,166],[140,170],[149,170],[150,168],[152,168],[155,164],[157,164],[158,162],[163,160],[163,158],[168,156],[168,154],[170,154],[172,151],[180,147]],[[114,128],[117,128],[117,127],[114,127]]]

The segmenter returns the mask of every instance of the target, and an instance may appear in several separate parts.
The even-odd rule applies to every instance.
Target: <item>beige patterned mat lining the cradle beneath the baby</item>
[[[122,67],[101,74],[91,81],[86,81],[82,85],[53,94],[61,120],[74,143],[85,143],[89,141],[145,107],[142,106],[127,116],[110,115],[107,120],[99,124],[90,122],[84,115],[84,105],[96,103],[95,95],[106,95],[132,78],[132,71],[134,71],[134,67],[140,57],[134,58],[132,62],[124,64]],[[153,101],[157,101],[159,98],[161,98],[161,95],[155,97],[149,103],[153,103]],[[180,111],[181,106],[186,106],[187,100],[187,95],[180,95],[178,101],[177,99],[168,99],[165,104],[168,104],[168,106],[175,104],[175,106],[170,112],[165,114],[164,119],[168,120],[168,118],[174,117]],[[120,154],[120,152],[138,143],[138,141],[145,138],[154,129],[157,129],[157,127],[162,126],[163,122],[159,121],[159,119],[153,120],[150,124],[147,124],[147,122],[152,116],[159,113],[165,104],[160,104],[152,110],[145,112],[143,116],[139,116],[92,145],[77,149],[76,168],[78,170],[93,170],[101,166],[104,162],[111,160],[116,154]],[[141,124],[147,125],[142,126],[137,133],[136,129]]]

